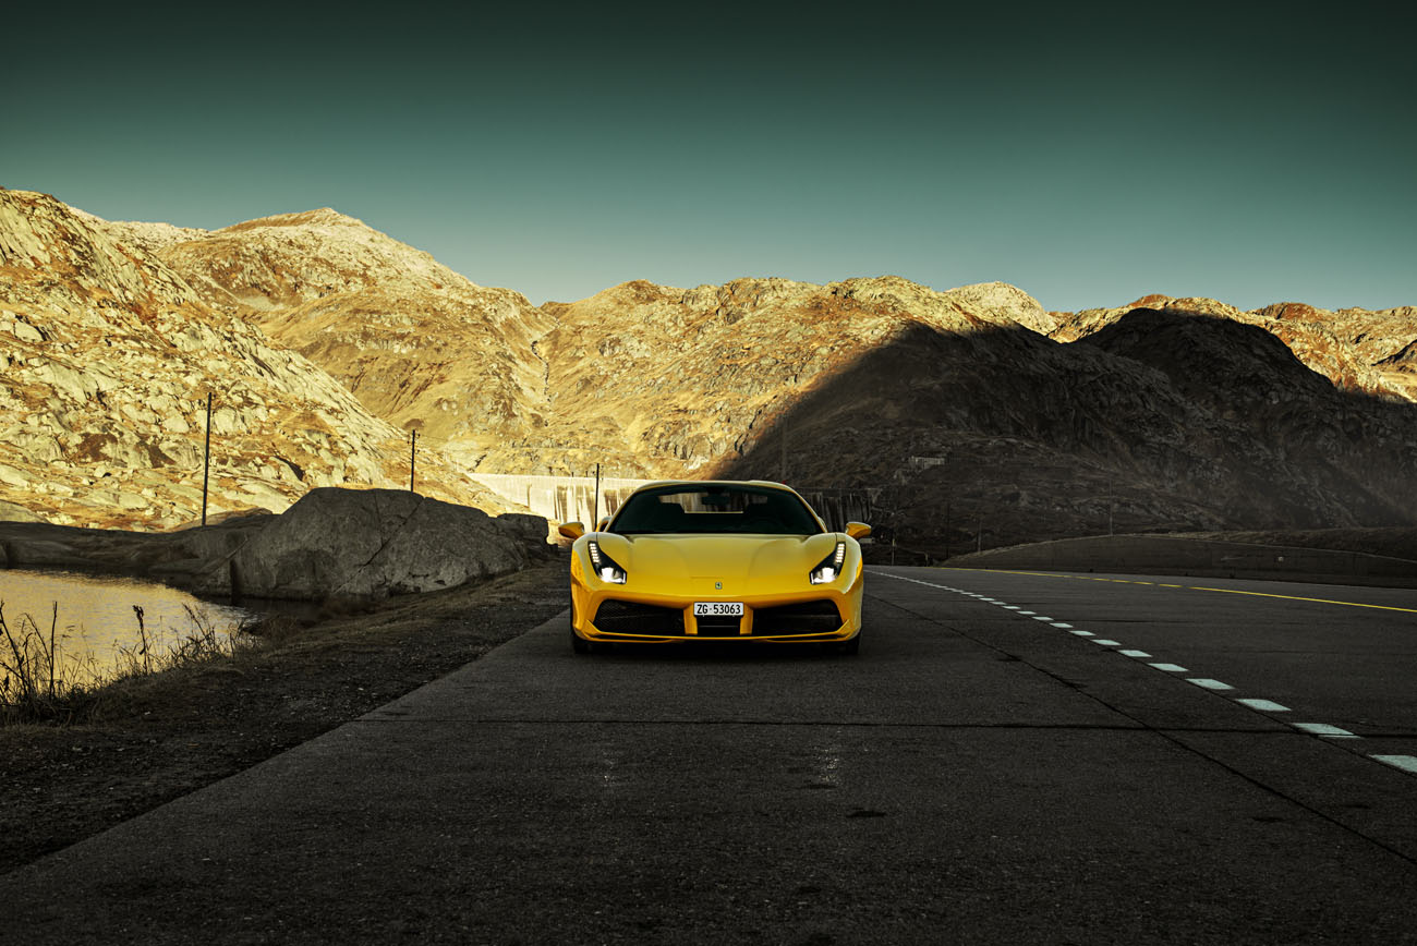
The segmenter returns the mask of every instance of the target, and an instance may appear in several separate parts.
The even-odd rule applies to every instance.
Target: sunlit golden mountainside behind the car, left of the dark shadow
[[[631,282],[544,310],[553,319],[537,341],[544,423],[490,450],[482,470],[584,473],[606,462],[622,476],[704,476],[910,326],[1053,324],[1012,286],[938,293],[891,276],[689,290]]]

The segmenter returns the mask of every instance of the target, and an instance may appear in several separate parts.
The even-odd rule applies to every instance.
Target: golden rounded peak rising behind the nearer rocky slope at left
[[[218,231],[109,225],[153,248],[203,300],[259,326],[371,414],[463,465],[544,423],[550,320],[333,210]]]

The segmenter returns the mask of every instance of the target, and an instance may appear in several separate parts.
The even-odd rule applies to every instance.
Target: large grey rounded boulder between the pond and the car
[[[455,588],[527,565],[546,520],[405,490],[310,490],[197,579],[207,593],[320,600]]]

